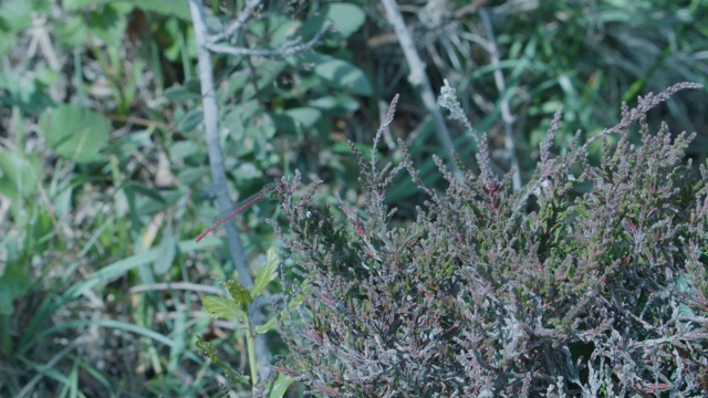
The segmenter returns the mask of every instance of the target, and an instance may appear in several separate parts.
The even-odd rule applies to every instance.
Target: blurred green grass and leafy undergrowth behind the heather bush
[[[247,3],[207,2],[210,31],[226,32]],[[444,78],[457,88],[475,128],[489,134],[492,169],[506,172],[516,159],[522,184],[560,105],[562,151],[573,136],[563,132],[616,124],[622,101],[708,76],[705,0],[398,4],[434,91]],[[440,132],[407,81],[379,2],[263,1],[248,22],[229,45],[316,40],[285,56],[214,56],[230,192],[244,197],[299,170],[323,180],[316,200],[332,202],[336,191],[361,206],[346,140],[371,149],[396,93],[379,156],[400,160],[400,138],[426,186],[445,187],[430,159],[446,156]],[[317,36],[327,23],[334,28]],[[200,301],[221,294],[218,281],[236,264],[222,232],[194,242],[219,212],[196,55],[187,1],[0,2],[1,396],[212,396],[225,394],[220,384],[238,391],[195,349],[196,335],[227,343],[220,358],[249,374],[246,332],[210,320]],[[705,104],[705,88],[684,92],[649,122],[696,130],[688,151],[702,161]],[[449,127],[475,168],[472,135]],[[421,198],[400,178],[386,200],[403,223]],[[272,214],[274,201],[264,201],[239,221],[254,274],[279,244],[263,221]],[[263,294],[278,301],[279,289]],[[272,315],[270,302],[261,306]],[[266,336],[270,353],[288,355],[277,328]]]

